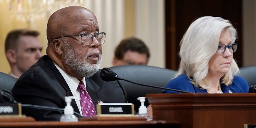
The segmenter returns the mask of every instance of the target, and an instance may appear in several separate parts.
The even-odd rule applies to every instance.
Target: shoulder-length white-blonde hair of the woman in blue
[[[232,42],[237,39],[236,29],[230,21],[220,17],[204,16],[195,20],[180,41],[180,68],[175,77],[186,74],[190,82],[198,88],[208,88],[204,78],[208,74],[208,63],[216,53],[223,30],[230,32]],[[239,72],[234,58],[228,73],[222,76],[227,86]]]

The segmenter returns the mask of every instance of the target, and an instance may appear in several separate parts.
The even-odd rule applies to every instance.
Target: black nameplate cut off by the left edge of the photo
[[[18,115],[18,104],[0,104],[0,115]]]

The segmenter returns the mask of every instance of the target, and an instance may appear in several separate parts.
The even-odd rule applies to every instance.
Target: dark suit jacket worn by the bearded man
[[[100,78],[99,70],[90,78],[86,78],[86,88],[95,109],[98,101],[104,103],[126,103],[125,91],[116,81],[105,82]],[[65,96],[73,96],[68,84],[47,55],[42,56],[27,72],[22,74],[12,94],[17,102],[55,108],[66,106]],[[79,113],[75,100],[71,105]],[[22,107],[22,114],[32,116],[36,120],[60,120],[61,111],[42,110]]]

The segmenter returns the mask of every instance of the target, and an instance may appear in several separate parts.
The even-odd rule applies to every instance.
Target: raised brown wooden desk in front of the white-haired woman
[[[243,128],[256,124],[256,93],[147,94],[153,120],[176,120],[180,128]]]

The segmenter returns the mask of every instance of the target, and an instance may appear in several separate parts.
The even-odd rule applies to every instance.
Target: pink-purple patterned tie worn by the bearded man
[[[92,117],[96,115],[92,99],[85,89],[84,82],[79,82],[78,90],[80,90],[80,104],[83,116]]]

